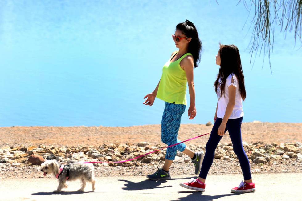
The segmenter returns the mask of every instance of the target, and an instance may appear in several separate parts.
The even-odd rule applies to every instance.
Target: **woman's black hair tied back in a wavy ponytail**
[[[184,35],[192,38],[188,45],[188,52],[193,55],[194,68],[198,67],[197,62],[200,61],[200,51],[202,50],[202,42],[198,37],[195,25],[186,20],[186,22],[179,23],[176,29],[181,30]]]

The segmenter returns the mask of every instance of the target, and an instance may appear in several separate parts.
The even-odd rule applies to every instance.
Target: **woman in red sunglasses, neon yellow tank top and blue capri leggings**
[[[165,101],[165,110],[161,120],[161,141],[167,145],[181,142],[177,139],[177,135],[181,116],[185,112],[187,104],[187,82],[190,92],[188,116],[189,119],[194,119],[196,116],[193,69],[197,67],[202,48],[196,27],[189,20],[176,26],[172,38],[179,50],[172,53],[169,61],[163,67],[161,79],[155,90],[145,96],[147,100],[143,103],[152,106],[155,97]],[[191,157],[192,163],[195,165],[195,174],[198,174],[203,152],[194,153],[184,143],[181,143],[167,149],[164,166],[158,168],[155,173],[148,175],[147,178],[152,180],[170,179],[169,168],[175,159],[177,150]]]

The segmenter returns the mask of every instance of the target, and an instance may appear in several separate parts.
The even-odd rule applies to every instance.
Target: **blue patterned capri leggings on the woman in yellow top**
[[[186,105],[165,102],[165,110],[161,119],[161,141],[168,146],[181,142],[177,139],[177,134],[180,127],[180,119],[185,110]],[[174,160],[177,150],[182,152],[185,148],[185,143],[169,147],[166,151],[165,159]]]

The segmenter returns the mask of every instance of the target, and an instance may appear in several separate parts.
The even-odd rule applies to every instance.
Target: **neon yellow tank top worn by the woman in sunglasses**
[[[178,51],[173,54],[173,58]],[[180,62],[183,58],[191,53],[184,54],[181,58],[171,62],[171,58],[165,63],[162,68],[161,81],[159,82],[156,97],[174,104],[187,104],[186,89],[187,89],[187,76],[186,71],[180,67]]]

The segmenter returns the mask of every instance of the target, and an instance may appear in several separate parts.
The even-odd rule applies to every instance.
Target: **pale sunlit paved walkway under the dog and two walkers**
[[[208,175],[204,193],[190,191],[179,186],[194,175],[173,176],[168,181],[151,181],[145,177],[99,177],[96,191],[92,192],[87,183],[85,192],[77,192],[80,182],[69,182],[67,191],[55,194],[58,182],[52,178],[2,179],[0,180],[0,200],[302,200],[302,173],[253,174],[256,192],[246,194],[231,193],[232,187],[239,185],[242,175]]]

